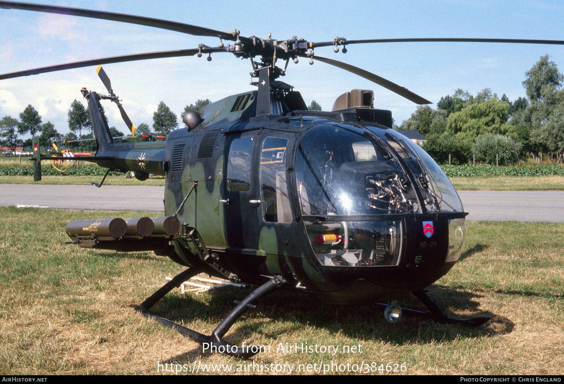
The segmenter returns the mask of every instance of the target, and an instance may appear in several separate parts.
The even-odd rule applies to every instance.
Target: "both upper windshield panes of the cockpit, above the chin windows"
[[[389,129],[319,124],[299,142],[296,172],[303,215],[462,212],[437,163]]]

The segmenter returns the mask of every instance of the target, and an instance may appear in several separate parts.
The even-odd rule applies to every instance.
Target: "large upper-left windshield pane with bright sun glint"
[[[421,213],[402,165],[358,128],[320,124],[307,131],[296,176],[303,215]]]

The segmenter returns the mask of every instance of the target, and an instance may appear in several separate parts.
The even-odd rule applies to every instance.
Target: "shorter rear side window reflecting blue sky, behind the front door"
[[[227,190],[241,192],[250,190],[250,154],[253,148],[251,137],[233,139],[227,162]]]

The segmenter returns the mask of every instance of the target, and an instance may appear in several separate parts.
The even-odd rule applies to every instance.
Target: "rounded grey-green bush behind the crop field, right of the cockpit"
[[[499,156],[499,164],[509,166],[519,159],[522,144],[514,141],[509,136],[499,133],[486,133],[478,137],[472,148],[478,162],[496,164],[496,155]]]

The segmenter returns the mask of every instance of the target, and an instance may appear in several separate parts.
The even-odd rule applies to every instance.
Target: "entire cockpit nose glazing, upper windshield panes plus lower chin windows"
[[[424,150],[398,132],[364,125],[320,123],[299,141],[298,209],[324,266],[399,265],[403,217],[462,212],[456,190]],[[447,260],[456,261],[464,218],[448,223]]]

